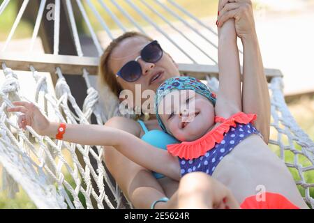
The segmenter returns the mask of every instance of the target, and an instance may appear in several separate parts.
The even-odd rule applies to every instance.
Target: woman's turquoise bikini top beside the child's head
[[[137,121],[142,126],[142,129],[144,130],[144,134],[142,136],[142,140],[146,141],[148,144],[151,144],[152,146],[167,150],[168,144],[177,144],[179,141],[172,137],[170,134],[166,134],[163,131],[160,130],[151,130],[149,131],[147,127],[145,126],[144,122],[141,120]],[[163,178],[163,174],[156,173],[152,171],[155,178]]]

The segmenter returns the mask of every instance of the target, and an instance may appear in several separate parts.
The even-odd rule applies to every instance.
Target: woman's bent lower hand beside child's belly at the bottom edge
[[[239,208],[239,204],[225,185],[207,174],[193,172],[181,178],[167,208]]]

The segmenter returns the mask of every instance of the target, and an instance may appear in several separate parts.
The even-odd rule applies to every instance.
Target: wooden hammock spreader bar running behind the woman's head
[[[65,56],[53,54],[36,54],[36,55],[18,55],[18,54],[2,54],[0,55],[0,63],[6,63],[6,66],[13,70],[29,70],[29,66],[33,66],[39,72],[56,72],[56,68],[61,68],[63,73],[69,75],[80,75],[83,68],[90,75],[97,75],[99,58],[87,56]],[[206,79],[206,75],[218,77],[218,66],[201,65],[192,63],[179,63],[181,73],[193,75],[198,79]],[[283,77],[281,70],[265,68],[264,73],[267,81],[272,77]]]

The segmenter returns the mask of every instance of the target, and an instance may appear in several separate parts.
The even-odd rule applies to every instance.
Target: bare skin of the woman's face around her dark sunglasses
[[[110,68],[114,74],[126,64],[128,61],[134,61],[137,56],[140,56],[140,52],[150,41],[142,36],[135,36],[132,38],[126,38],[117,47],[114,48],[110,56]],[[140,84],[142,91],[150,89],[156,91],[158,86],[163,83],[166,79],[170,77],[179,76],[179,70],[177,69],[177,64],[174,63],[171,56],[166,52],[163,52],[163,56],[156,63],[147,63],[142,59],[137,62],[140,63],[142,67],[142,76],[135,82],[126,82],[121,77],[117,77],[117,82],[121,84],[122,89],[128,89],[132,91],[134,98],[139,97],[135,95],[135,84]],[[162,75],[158,77],[154,82],[151,79],[154,75],[162,72]],[[142,102],[146,100],[142,99]]]

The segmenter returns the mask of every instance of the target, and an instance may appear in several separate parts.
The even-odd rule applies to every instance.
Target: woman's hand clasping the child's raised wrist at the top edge
[[[234,19],[237,36],[243,40],[256,34],[251,0],[220,0],[218,28]]]

